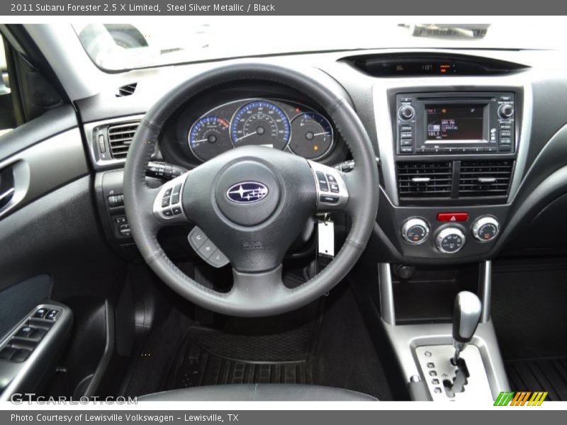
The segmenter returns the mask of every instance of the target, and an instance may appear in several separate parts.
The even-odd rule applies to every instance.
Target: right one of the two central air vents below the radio
[[[507,196],[513,166],[511,159],[462,161],[459,197]]]

